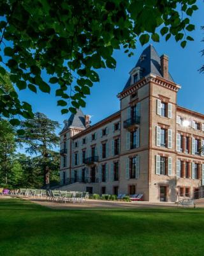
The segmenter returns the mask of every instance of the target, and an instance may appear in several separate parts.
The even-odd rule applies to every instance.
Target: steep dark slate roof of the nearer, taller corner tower
[[[150,73],[162,77],[160,57],[159,54],[157,54],[156,49],[154,49],[154,46],[151,44],[147,48],[145,48],[140,55],[140,58],[135,65],[135,68],[136,67],[143,68],[142,78],[149,75]],[[171,77],[170,73],[168,74],[168,76],[168,79],[173,82],[173,78]],[[129,77],[123,90],[126,90],[129,86],[131,86],[130,82],[131,76]]]

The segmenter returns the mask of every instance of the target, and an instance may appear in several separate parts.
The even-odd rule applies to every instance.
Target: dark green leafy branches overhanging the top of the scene
[[[10,71],[19,90],[34,93],[50,93],[50,84],[58,84],[61,112],[75,113],[99,81],[96,70],[115,68],[113,50],[122,47],[131,56],[136,41],[159,42],[160,35],[185,47],[193,40],[189,18],[197,9],[196,0],[1,0],[0,73]],[[13,115],[6,109],[11,100],[17,103],[15,113],[32,115],[30,105],[20,106],[17,97],[6,97],[0,114]]]

